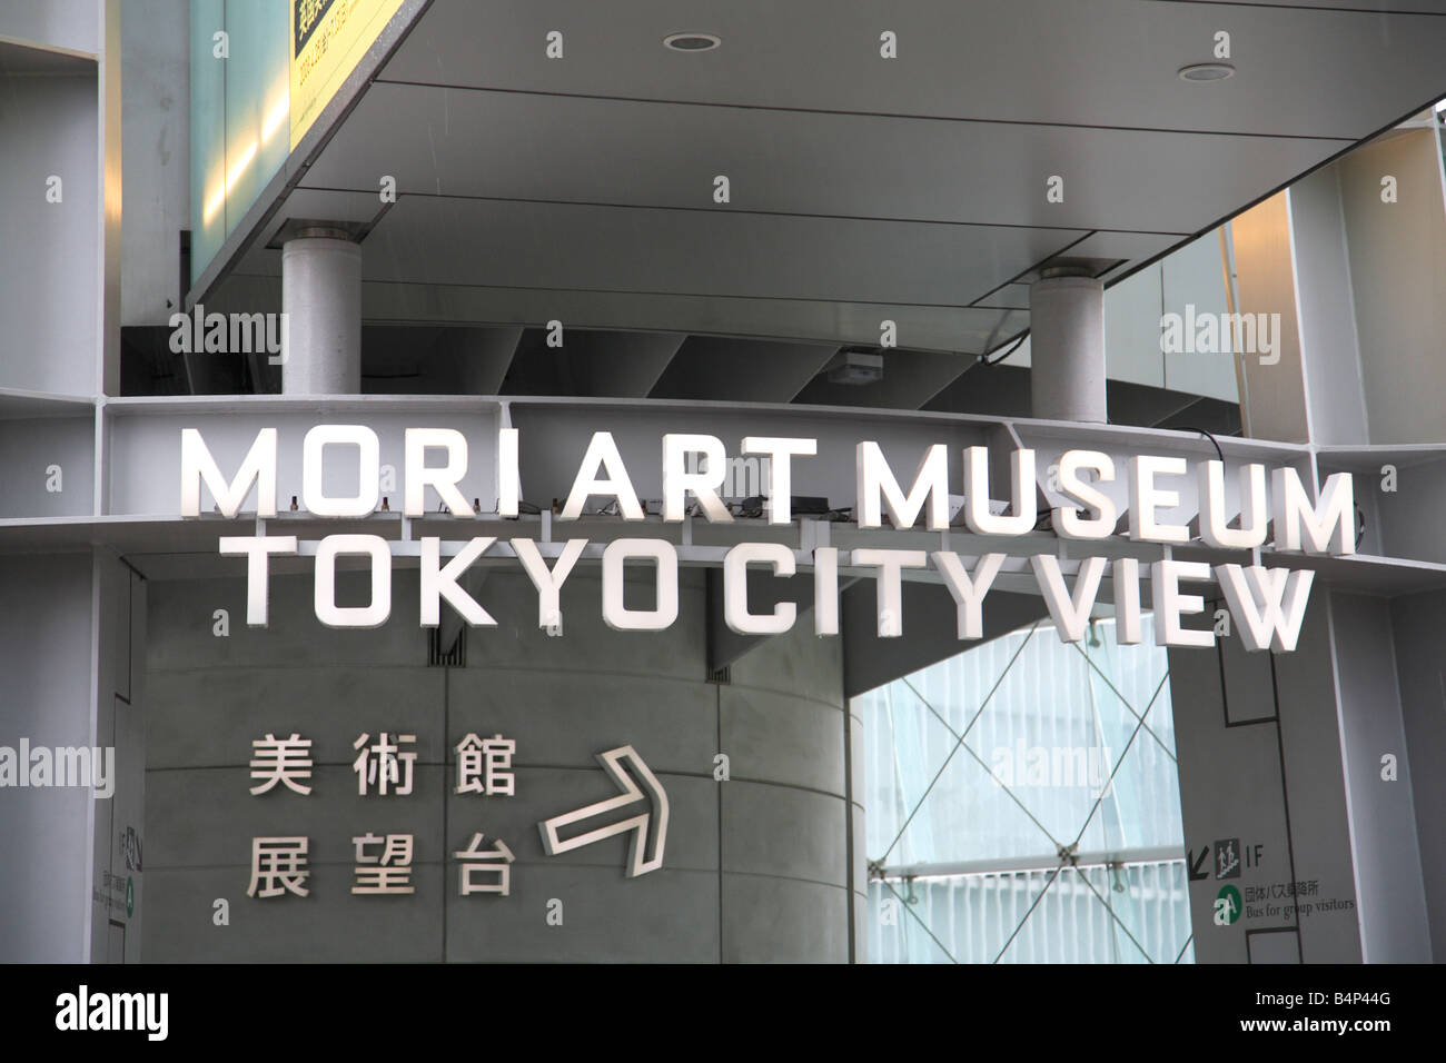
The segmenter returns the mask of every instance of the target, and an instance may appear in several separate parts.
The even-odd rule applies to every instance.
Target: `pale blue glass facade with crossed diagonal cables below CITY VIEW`
[[[875,962],[1192,959],[1170,668],[1040,622],[855,699]]]

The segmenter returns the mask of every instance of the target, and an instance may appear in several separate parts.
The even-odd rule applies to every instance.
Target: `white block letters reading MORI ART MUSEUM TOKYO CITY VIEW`
[[[680,524],[690,505],[711,524],[729,524],[733,515],[719,498],[719,487],[727,474],[723,441],[713,435],[664,435],[662,444],[662,502],[664,524]],[[202,483],[223,516],[234,518],[254,487],[257,518],[276,516],[276,445],[275,428],[257,432],[236,474],[227,480],[205,445],[201,432],[185,428],[181,432],[181,513],[201,515]],[[450,428],[408,428],[405,432],[405,502],[403,516],[425,513],[427,489],[432,489],[442,506],[454,516],[470,519],[516,518],[521,503],[518,470],[518,430],[505,428],[497,434],[497,508],[496,513],[482,513],[458,490],[467,471],[467,440]],[[353,451],[360,469],[354,495],[328,495],[322,469],[327,453]],[[771,499],[766,519],[771,525],[792,522],[791,477],[795,460],[817,456],[817,441],[810,438],[742,440],[742,453],[766,457],[771,464]],[[445,454],[444,464],[428,464],[428,453]],[[380,443],[366,425],[317,425],[302,444],[302,500],[312,516],[356,519],[370,516],[379,502]],[[707,458],[707,470],[697,471],[693,456]],[[857,493],[855,522],[859,529],[914,528],[923,519],[928,531],[950,528],[949,453],[944,444],[925,451],[912,484],[905,490],[889,469],[881,447],[860,441],[855,448]],[[1009,454],[1008,508],[992,502],[989,483],[991,453],[986,447],[966,447],[963,451],[964,526],[988,537],[1022,537],[1035,531],[1038,521],[1038,480],[1035,453],[1018,448]],[[1349,473],[1332,474],[1312,500],[1293,467],[1267,470],[1262,464],[1246,464],[1238,470],[1239,515],[1226,503],[1223,461],[1197,463],[1192,470],[1183,457],[1137,456],[1116,469],[1108,454],[1090,450],[1069,450],[1060,456],[1058,492],[1067,502],[1048,513],[1054,532],[1061,539],[1099,541],[1118,535],[1116,526],[1128,524],[1126,537],[1137,542],[1164,547],[1163,558],[1148,565],[1155,641],[1168,646],[1210,646],[1210,629],[1181,625],[1181,618],[1200,613],[1205,600],[1181,590],[1181,583],[1216,580],[1225,594],[1241,641],[1248,651],[1272,649],[1288,652],[1296,648],[1304,620],[1313,571],[1267,568],[1259,564],[1258,551],[1272,535],[1275,551],[1343,555],[1355,552],[1355,500]],[[1199,538],[1219,551],[1251,551],[1252,564],[1207,564],[1176,560],[1171,547],[1187,545],[1192,528],[1165,519],[1180,506],[1180,486],[1194,479],[1200,499]],[[1051,470],[1053,477],[1053,470]],[[1100,484],[1113,484],[1116,477],[1128,480],[1126,512]],[[584,516],[590,499],[609,499],[625,522],[645,521],[643,505],[633,489],[617,444],[610,432],[593,432],[583,456],[567,502],[557,521],[571,522]],[[262,531],[260,528],[257,529]],[[268,560],[272,555],[301,552],[315,554],[317,619],[330,628],[376,628],[392,613],[392,554],[415,552],[421,563],[422,626],[441,622],[441,600],[460,613],[471,626],[495,626],[496,620],[458,583],[463,573],[479,558],[510,555],[518,560],[532,580],[538,594],[538,623],[561,633],[560,592],[577,560],[589,550],[584,538],[565,542],[536,541],[516,537],[506,544],[496,537],[473,537],[467,541],[444,542],[427,535],[415,542],[398,544],[380,535],[327,535],[302,550],[295,535],[227,535],[220,539],[220,552],[247,558],[247,623],[266,626],[268,620]],[[941,544],[943,545],[943,544]],[[662,631],[678,618],[678,547],[662,538],[619,538],[593,550],[602,560],[602,612],[615,631]],[[372,600],[366,606],[335,603],[335,564],[341,555],[367,557],[372,570]],[[442,558],[447,557],[445,563]],[[966,558],[950,550],[855,548],[833,547],[813,550],[807,560],[814,577],[814,632],[839,633],[839,570],[849,567],[872,574],[878,581],[878,633],[884,638],[902,633],[902,573],[933,568],[957,603],[960,639],[977,639],[983,633],[982,609],[1004,552],[983,552]],[[552,558],[549,565],[548,558]],[[966,560],[969,564],[966,564]],[[1242,558],[1245,560],[1245,558]],[[648,609],[629,607],[623,602],[623,570],[632,563],[649,564],[654,570],[655,594]],[[785,632],[798,619],[792,602],[781,602],[766,613],[749,609],[746,571],[762,565],[775,576],[794,576],[800,554],[781,542],[740,542],[723,557],[724,620],[730,629],[746,635]],[[972,565],[972,567],[970,567]],[[1100,581],[1109,570],[1113,584],[1119,641],[1141,641],[1141,563],[1132,557],[1086,557],[1079,563],[1073,592],[1064,583],[1060,558],[1054,552],[1030,555],[1040,594],[1056,622],[1064,642],[1084,636]]]

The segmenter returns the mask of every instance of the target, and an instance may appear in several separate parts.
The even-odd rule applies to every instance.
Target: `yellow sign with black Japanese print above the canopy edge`
[[[311,129],[402,0],[291,0],[291,146]]]

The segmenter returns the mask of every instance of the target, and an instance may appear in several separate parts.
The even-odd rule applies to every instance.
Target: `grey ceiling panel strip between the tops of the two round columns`
[[[599,292],[966,305],[1086,236],[726,211],[403,195],[363,279]]]

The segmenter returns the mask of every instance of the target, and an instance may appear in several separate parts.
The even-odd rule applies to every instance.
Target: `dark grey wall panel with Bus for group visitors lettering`
[[[1209,849],[1190,882],[1200,963],[1361,962],[1329,625],[1329,599],[1313,594],[1291,654],[1246,654],[1235,636],[1218,654],[1170,651],[1186,849],[1192,862]],[[1232,839],[1242,866],[1222,878],[1216,843]],[[1309,913],[1288,910],[1290,882],[1316,884]],[[1218,926],[1229,885],[1245,910]]]

